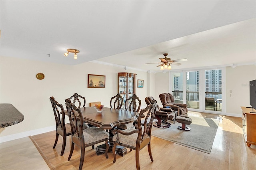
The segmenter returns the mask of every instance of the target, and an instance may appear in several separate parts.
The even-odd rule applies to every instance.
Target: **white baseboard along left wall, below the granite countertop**
[[[40,128],[40,129],[36,129],[36,130],[30,130],[30,131],[26,131],[26,132],[11,134],[8,136],[2,136],[2,137],[0,137],[0,143],[7,142],[10,140],[19,139],[19,138],[24,138],[24,137],[32,136],[32,135],[36,135],[36,134],[41,134],[41,133],[45,133],[45,132],[50,132],[53,130],[56,130],[56,126]]]

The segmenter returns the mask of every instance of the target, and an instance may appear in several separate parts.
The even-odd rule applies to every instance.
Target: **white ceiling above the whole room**
[[[163,53],[188,59],[172,69],[256,63],[255,0],[1,0],[0,14],[6,57],[151,71]]]

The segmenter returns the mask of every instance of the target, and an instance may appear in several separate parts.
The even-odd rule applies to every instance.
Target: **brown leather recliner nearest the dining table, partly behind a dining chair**
[[[149,105],[152,100],[154,100],[153,97],[145,98],[145,102],[147,105]],[[162,108],[156,105],[155,119],[157,119],[158,121],[154,122],[153,126],[158,128],[168,128],[171,126],[171,124],[168,123],[167,121],[170,120],[175,123],[175,118],[176,118],[176,115],[171,108]]]

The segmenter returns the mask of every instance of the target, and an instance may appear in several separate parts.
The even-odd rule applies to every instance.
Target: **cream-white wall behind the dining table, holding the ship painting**
[[[42,128],[55,126],[50,97],[64,105],[65,99],[74,93],[86,98],[86,106],[90,102],[101,101],[110,106],[110,98],[118,93],[118,72],[136,73],[137,79],[144,80],[144,88],[137,88],[136,93],[142,100],[148,96],[148,73],[145,71],[125,70],[121,67],[99,65],[88,62],[79,65],[61,65],[45,63],[13,57],[0,58],[0,103],[11,103],[23,115],[24,121],[6,128],[0,128],[1,141],[3,136],[26,135]],[[100,68],[100,69],[97,69]],[[43,80],[36,79],[37,73],[44,73]],[[106,75],[106,88],[87,88],[88,74]]]

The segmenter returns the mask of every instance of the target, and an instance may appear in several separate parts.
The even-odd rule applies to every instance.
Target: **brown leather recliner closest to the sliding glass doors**
[[[187,104],[184,103],[174,103],[174,97],[170,93],[162,93],[159,95],[163,107],[169,106],[174,111],[177,112],[177,116],[184,115],[188,113]]]

